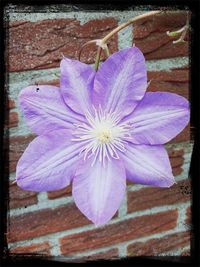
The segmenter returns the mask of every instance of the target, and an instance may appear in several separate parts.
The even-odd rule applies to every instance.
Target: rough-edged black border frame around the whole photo
[[[200,69],[199,69],[199,47],[200,47],[200,1],[199,0],[140,0],[140,1],[113,1],[110,4],[104,4],[101,1],[95,0],[84,3],[83,1],[64,1],[64,0],[1,0],[0,2],[0,18],[1,18],[1,31],[0,31],[0,73],[1,73],[1,84],[3,89],[3,94],[1,93],[1,105],[0,105],[0,118],[1,118],[1,155],[0,155],[0,170],[2,173],[0,182],[0,193],[2,196],[1,199],[1,232],[0,232],[0,240],[1,240],[1,262],[2,266],[65,266],[66,262],[52,261],[47,260],[47,258],[43,259],[41,257],[16,257],[9,258],[6,255],[6,224],[7,224],[7,208],[8,208],[8,148],[9,148],[9,135],[8,132],[4,132],[4,122],[5,119],[8,118],[8,112],[6,112],[6,104],[7,104],[7,95],[6,95],[6,86],[5,82],[7,79],[6,74],[6,27],[3,21],[3,13],[4,8],[8,4],[13,5],[29,5],[29,6],[40,6],[40,9],[44,5],[51,4],[67,4],[71,5],[68,11],[79,11],[79,10],[128,10],[131,6],[145,6],[148,7],[148,10],[155,10],[158,7],[167,8],[167,9],[184,9],[184,7],[188,7],[192,12],[191,17],[191,55],[190,55],[190,63],[191,63],[191,85],[190,85],[190,99],[191,99],[191,129],[192,136],[194,138],[194,149],[192,153],[192,160],[189,175],[192,178],[192,249],[191,249],[191,257],[181,256],[181,257],[131,257],[125,258],[121,260],[112,260],[112,261],[91,261],[86,264],[126,264],[126,265],[134,265],[134,266],[200,266],[200,246],[199,246],[199,236],[200,236],[200,168],[199,168],[199,122],[200,122],[200,108],[198,107],[199,102],[199,90],[200,90]],[[144,10],[144,9],[143,9]],[[53,12],[53,11],[52,11]],[[4,74],[4,75],[3,75]],[[3,96],[2,96],[3,95]],[[7,164],[7,165],[6,165]]]

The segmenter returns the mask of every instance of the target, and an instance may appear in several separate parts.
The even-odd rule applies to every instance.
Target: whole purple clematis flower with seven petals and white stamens
[[[163,146],[189,121],[182,96],[146,92],[142,52],[127,48],[95,72],[63,58],[60,88],[28,86],[19,96],[36,137],[17,164],[19,187],[53,191],[72,182],[80,211],[102,225],[118,210],[133,183],[170,187],[175,183]]]

